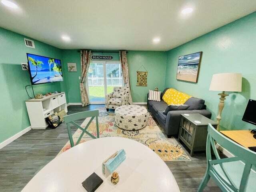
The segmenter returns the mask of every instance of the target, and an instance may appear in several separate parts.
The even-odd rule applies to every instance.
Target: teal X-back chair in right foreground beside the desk
[[[215,142],[234,157],[220,158]],[[216,159],[212,158],[211,148]],[[204,190],[210,178],[224,192],[256,192],[256,152],[238,145],[215,130],[211,124],[208,125],[206,158],[206,173],[198,192]]]

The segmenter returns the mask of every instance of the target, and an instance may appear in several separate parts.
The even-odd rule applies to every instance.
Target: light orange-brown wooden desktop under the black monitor
[[[251,134],[249,130],[229,130],[220,132],[246,148],[256,146],[256,139],[254,139],[253,134]]]

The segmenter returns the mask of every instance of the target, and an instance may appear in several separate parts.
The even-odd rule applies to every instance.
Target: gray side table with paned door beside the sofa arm
[[[206,150],[207,126],[212,124],[217,128],[217,123],[199,114],[181,114],[179,140],[190,149],[190,156],[195,151]]]

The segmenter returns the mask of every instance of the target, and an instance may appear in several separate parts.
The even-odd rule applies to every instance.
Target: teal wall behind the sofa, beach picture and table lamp
[[[202,51],[198,83],[176,80],[178,57]],[[203,98],[212,119],[218,112],[219,96],[209,91],[212,74],[242,73],[242,92],[231,92],[225,100],[220,125],[222,129],[255,128],[243,122],[242,116],[249,98],[256,100],[256,13],[236,20],[204,36],[174,48],[167,53],[166,87],[176,88]]]

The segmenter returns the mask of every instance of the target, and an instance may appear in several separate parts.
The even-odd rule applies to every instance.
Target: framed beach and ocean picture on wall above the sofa
[[[202,53],[201,51],[179,57],[177,80],[197,83]]]

